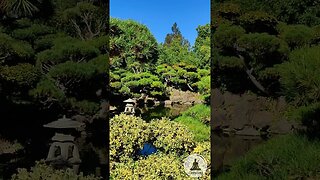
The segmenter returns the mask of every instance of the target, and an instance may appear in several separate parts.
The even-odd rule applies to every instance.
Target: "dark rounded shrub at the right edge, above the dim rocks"
[[[302,48],[290,54],[288,62],[279,65],[283,93],[297,105],[320,100],[320,47]]]

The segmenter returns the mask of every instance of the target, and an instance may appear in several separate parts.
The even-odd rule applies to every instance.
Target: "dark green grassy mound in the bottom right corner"
[[[320,142],[289,134],[250,151],[219,180],[320,178]]]

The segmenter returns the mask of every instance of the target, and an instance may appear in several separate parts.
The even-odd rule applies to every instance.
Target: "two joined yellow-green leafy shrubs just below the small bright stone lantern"
[[[135,158],[145,142],[152,142],[158,151],[177,155],[191,152],[195,147],[193,136],[185,126],[165,118],[146,123],[139,117],[120,114],[110,123],[111,161]]]

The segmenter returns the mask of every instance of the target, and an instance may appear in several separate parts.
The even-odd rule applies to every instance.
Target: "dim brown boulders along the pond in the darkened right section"
[[[284,118],[287,103],[283,97],[271,100],[254,94],[221,93],[218,89],[214,89],[213,94],[214,131],[260,136],[287,134],[301,128],[301,124]]]

